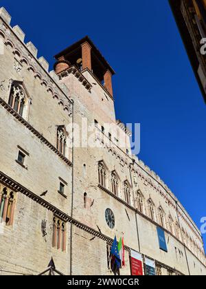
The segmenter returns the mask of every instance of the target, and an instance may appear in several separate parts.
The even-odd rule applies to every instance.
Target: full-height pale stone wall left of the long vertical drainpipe
[[[2,13],[1,10],[1,16]],[[47,191],[42,198],[57,210],[70,215],[71,166],[55,151],[57,126],[67,127],[71,123],[69,92],[56,83],[54,73],[47,72],[44,58],[36,58],[37,50],[32,43],[25,45],[21,42],[23,32],[19,28],[12,30],[8,24],[0,18],[0,37],[4,43],[3,54],[0,55],[0,171],[37,195],[38,200]],[[23,119],[29,125],[3,105],[9,101],[12,81],[19,81],[25,88],[27,114],[23,114]],[[29,153],[25,156],[25,167],[16,162],[17,146]],[[71,160],[69,147],[67,159]],[[68,183],[65,189],[67,199],[58,193],[59,177]],[[54,213],[51,208],[45,208],[41,201],[36,202],[29,195],[15,193],[13,226],[4,226],[0,234],[1,274],[37,275],[47,268],[52,257],[58,269],[69,274],[70,224],[66,224],[67,253],[63,253],[52,248]],[[45,237],[41,230],[42,221],[47,222]]]

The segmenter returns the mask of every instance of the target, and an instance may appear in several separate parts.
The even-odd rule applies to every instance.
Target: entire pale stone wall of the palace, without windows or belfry
[[[72,274],[110,275],[106,242],[111,244],[115,235],[119,239],[124,233],[127,248],[137,250],[182,274],[187,275],[190,270],[192,275],[206,275],[201,233],[159,176],[134,156],[128,156],[126,149],[129,147],[119,148],[115,143],[117,125],[113,99],[89,70],[82,72],[82,78],[87,79],[91,89],[87,89],[73,74],[60,76],[58,82],[58,76],[54,72],[48,73],[47,61],[37,58],[36,47],[32,43],[23,43],[24,34],[21,29],[18,26],[10,27],[10,16],[2,9],[0,37],[4,43],[4,54],[0,55],[0,175],[4,173],[8,176],[0,182],[7,182],[17,195],[13,226],[5,226],[4,233],[0,234],[0,268],[10,272],[3,274],[16,272],[36,275],[45,270],[51,257],[54,257],[56,268],[64,274],[70,273],[71,258]],[[26,114],[23,115],[26,122],[6,105],[12,81],[23,84],[27,99],[30,100],[25,107]],[[73,118],[70,98],[74,100]],[[69,142],[72,136],[68,136],[66,158],[63,158],[55,150],[56,129],[58,125],[67,128],[74,120],[74,125],[80,125],[80,129],[84,131],[82,118],[86,118],[89,125],[98,120],[98,128],[92,136],[98,147],[73,149],[71,211],[72,168],[69,161],[72,160],[72,151],[69,149]],[[104,133],[108,136],[108,132],[111,132],[112,141],[106,142],[103,138],[101,126],[105,126],[105,123],[113,123],[111,131],[105,130]],[[120,136],[122,137],[128,142],[129,138],[125,133]],[[74,141],[76,138],[75,135]],[[17,146],[29,153],[25,158],[27,169],[15,161]],[[104,161],[106,167],[106,188],[99,186],[100,161]],[[117,197],[111,193],[112,171],[116,171],[119,180]],[[59,177],[68,183],[67,198],[58,193]],[[31,193],[25,193],[23,189],[15,190],[16,185],[12,184],[11,179]],[[124,181],[130,185],[130,206],[125,202]],[[47,191],[45,196],[41,196],[43,191]],[[144,197],[143,213],[137,211],[139,191]],[[87,193],[86,206],[84,193]],[[155,206],[153,221],[149,217],[149,199]],[[159,206],[165,216],[163,227],[168,253],[159,249]],[[106,224],[106,208],[111,208],[115,214],[113,229]],[[67,219],[66,253],[52,248],[54,212]],[[181,232],[179,235],[176,233],[175,226],[170,231],[169,215],[173,226],[177,223],[181,232],[185,232],[185,239]],[[45,238],[41,231],[43,220],[47,221]],[[72,223],[71,236],[69,222]],[[194,242],[196,246],[192,246]],[[168,271],[163,268],[162,273],[167,274]],[[121,274],[130,275],[128,250],[126,267],[121,269]]]

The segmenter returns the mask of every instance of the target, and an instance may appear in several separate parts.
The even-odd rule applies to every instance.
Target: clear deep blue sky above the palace
[[[206,216],[206,106],[168,1],[3,0],[0,6],[51,69],[54,54],[91,37],[117,72],[117,118],[141,123],[139,158],[200,227]]]

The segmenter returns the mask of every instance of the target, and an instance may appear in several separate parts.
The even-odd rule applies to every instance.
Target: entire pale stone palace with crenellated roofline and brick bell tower
[[[49,72],[10,20],[1,8],[0,274],[38,275],[53,257],[65,275],[111,275],[109,250],[124,234],[121,275],[131,274],[131,250],[156,275],[206,275],[201,232],[131,154],[130,131],[115,118],[115,72],[97,47],[84,37]],[[82,120],[95,146],[78,146]]]

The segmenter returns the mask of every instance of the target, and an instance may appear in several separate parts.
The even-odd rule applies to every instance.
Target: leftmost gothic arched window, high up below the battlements
[[[10,91],[9,105],[20,116],[23,115],[23,108],[25,106],[25,92],[21,85],[13,84]]]

